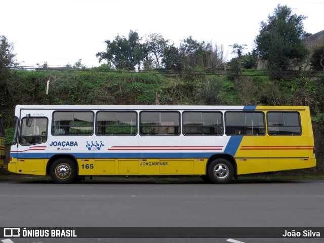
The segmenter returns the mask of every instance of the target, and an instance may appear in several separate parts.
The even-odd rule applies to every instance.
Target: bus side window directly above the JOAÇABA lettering
[[[93,134],[93,118],[92,111],[55,111],[52,135],[90,136]]]

